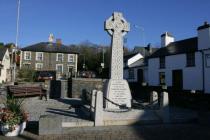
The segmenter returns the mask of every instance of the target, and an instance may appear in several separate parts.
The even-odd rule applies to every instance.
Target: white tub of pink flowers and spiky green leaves
[[[5,136],[17,136],[26,128],[28,114],[23,110],[23,99],[7,97],[4,108],[0,108],[1,131]]]

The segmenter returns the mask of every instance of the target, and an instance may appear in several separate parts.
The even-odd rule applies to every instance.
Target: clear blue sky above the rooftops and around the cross
[[[114,11],[131,24],[127,46],[160,44],[160,35],[171,32],[176,40],[197,35],[197,27],[210,23],[209,0],[21,0],[21,47],[48,41],[50,33],[66,45],[89,40],[110,44],[104,21]],[[15,42],[17,0],[0,0],[0,42]],[[137,29],[134,25],[143,28]]]

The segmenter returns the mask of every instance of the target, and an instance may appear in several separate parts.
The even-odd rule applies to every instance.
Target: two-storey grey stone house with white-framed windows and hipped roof
[[[21,69],[56,71],[56,77],[77,74],[78,53],[60,41],[41,42],[21,49]]]

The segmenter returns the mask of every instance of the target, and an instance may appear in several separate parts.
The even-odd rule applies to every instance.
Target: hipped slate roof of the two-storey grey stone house
[[[40,42],[21,49],[22,51],[32,51],[32,52],[51,52],[51,53],[75,53],[70,47],[63,44],[50,43],[50,42]]]

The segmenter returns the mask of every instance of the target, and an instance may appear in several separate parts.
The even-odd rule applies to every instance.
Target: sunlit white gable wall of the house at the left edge
[[[7,49],[4,57],[3,57],[3,60],[2,60],[2,63],[1,63],[4,67],[1,69],[1,76],[0,76],[0,83],[2,83],[3,81],[6,82],[10,76],[8,73],[7,73],[7,70],[10,69],[10,57],[9,57],[9,51]]]

